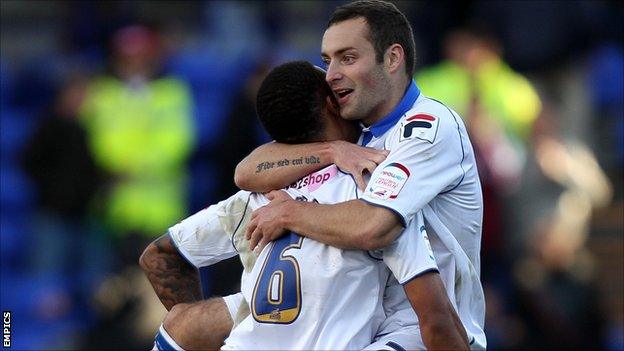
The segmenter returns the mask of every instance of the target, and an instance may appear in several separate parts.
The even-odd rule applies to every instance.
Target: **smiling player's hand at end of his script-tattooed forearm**
[[[331,147],[334,164],[351,174],[361,190],[366,189],[366,173],[372,174],[390,153],[388,150],[375,150],[341,140],[332,141]]]

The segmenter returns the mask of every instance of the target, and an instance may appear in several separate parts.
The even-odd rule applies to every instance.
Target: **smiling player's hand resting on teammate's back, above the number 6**
[[[292,199],[286,200],[276,194],[279,191],[271,193],[274,200],[251,214],[251,221],[247,225],[245,233],[247,240],[249,240],[249,249],[257,253],[260,253],[268,243],[286,233],[286,229],[281,224],[281,219],[286,211],[286,205],[290,201],[294,201]]]

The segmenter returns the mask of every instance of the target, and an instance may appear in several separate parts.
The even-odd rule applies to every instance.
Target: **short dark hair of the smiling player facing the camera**
[[[412,26],[403,12],[394,4],[381,0],[354,1],[334,10],[327,28],[358,17],[368,23],[367,39],[375,48],[377,63],[383,62],[383,55],[390,45],[399,44],[405,51],[405,73],[411,79],[416,62],[416,44]]]

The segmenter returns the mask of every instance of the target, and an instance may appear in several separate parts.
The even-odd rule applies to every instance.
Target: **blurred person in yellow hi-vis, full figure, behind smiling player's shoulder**
[[[446,59],[416,75],[424,94],[465,116],[483,188],[483,268],[500,269],[502,237],[510,227],[506,198],[520,183],[531,127],[541,110],[537,93],[502,59],[497,41],[473,27],[452,31]],[[487,276],[488,274],[485,274]]]

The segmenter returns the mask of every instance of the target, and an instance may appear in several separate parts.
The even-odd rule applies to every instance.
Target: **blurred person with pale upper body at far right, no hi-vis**
[[[545,104],[531,139],[512,301],[528,328],[524,348],[600,349],[605,317],[586,242],[592,212],[610,203],[612,185],[585,144],[559,136],[556,117]]]

